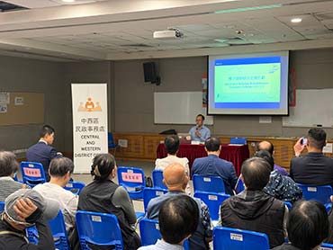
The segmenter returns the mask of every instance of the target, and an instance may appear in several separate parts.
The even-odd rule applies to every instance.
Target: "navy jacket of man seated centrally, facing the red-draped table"
[[[193,162],[191,174],[202,176],[220,176],[223,179],[226,193],[233,195],[232,190],[237,183],[235,167],[229,161],[221,159],[219,156],[209,155],[196,158]]]

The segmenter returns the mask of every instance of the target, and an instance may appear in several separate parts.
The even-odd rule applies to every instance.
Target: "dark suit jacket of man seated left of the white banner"
[[[49,163],[57,156],[57,150],[44,141],[39,141],[37,144],[29,147],[26,153],[28,162],[37,162],[43,165],[47,182],[49,182]]]

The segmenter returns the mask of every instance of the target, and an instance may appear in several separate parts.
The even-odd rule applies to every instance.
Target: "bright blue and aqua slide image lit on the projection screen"
[[[280,58],[217,60],[215,107],[277,108],[280,77]]]

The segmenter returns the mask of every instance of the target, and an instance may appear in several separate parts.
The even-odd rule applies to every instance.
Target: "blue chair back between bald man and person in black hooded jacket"
[[[230,195],[216,192],[194,192],[194,197],[199,198],[207,205],[212,220],[218,220],[220,205],[229,199]]]

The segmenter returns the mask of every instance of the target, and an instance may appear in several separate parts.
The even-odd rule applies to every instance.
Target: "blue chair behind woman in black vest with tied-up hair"
[[[82,250],[92,249],[89,246],[123,249],[121,228],[113,214],[78,210],[76,228]]]

